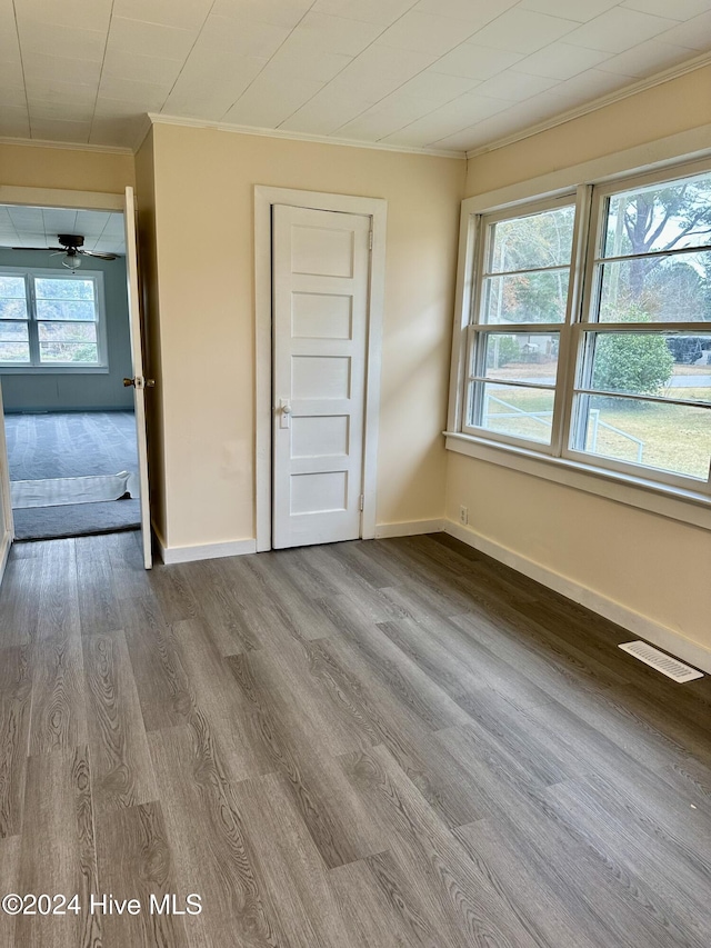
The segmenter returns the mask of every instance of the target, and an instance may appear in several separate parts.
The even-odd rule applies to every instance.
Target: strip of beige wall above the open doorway
[[[133,156],[0,142],[0,184],[122,194],[134,183]]]

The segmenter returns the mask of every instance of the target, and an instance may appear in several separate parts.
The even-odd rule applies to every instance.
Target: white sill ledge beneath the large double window
[[[711,530],[711,497],[705,493],[667,487],[565,458],[548,458],[509,445],[493,445],[471,435],[444,431],[444,437],[447,450],[458,455]]]

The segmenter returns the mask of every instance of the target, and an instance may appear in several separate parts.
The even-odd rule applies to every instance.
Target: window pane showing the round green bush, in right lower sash
[[[711,332],[585,335],[582,388],[711,401]]]

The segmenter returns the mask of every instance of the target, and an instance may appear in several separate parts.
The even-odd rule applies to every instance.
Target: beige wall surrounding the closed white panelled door
[[[465,163],[167,124],[153,151],[164,542],[254,537],[254,184],[388,200],[378,522],[441,518]]]

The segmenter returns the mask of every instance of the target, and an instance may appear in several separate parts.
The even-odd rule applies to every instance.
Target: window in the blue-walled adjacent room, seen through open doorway
[[[0,268],[0,367],[106,367],[102,276]]]

